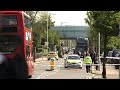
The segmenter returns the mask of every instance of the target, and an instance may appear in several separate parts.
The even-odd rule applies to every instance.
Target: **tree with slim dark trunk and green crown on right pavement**
[[[86,22],[90,26],[91,30],[96,32],[100,32],[101,40],[103,40],[104,44],[104,61],[103,61],[103,78],[106,78],[106,46],[108,44],[109,39],[112,36],[118,35],[118,23],[116,17],[118,17],[119,11],[90,11],[87,12],[88,18],[86,18]],[[101,45],[102,46],[102,45]]]

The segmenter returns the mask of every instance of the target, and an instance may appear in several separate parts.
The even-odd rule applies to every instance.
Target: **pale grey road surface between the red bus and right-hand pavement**
[[[55,61],[53,71],[46,71],[46,69],[50,69],[49,65],[50,61],[46,59],[35,63],[32,79],[85,79],[86,77],[92,77],[92,74],[86,74],[85,66],[82,69],[76,67],[64,68],[64,58]]]

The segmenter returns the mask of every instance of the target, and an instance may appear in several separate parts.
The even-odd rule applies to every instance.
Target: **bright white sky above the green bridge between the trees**
[[[85,23],[87,11],[49,11],[55,26],[71,25],[71,26],[88,26]]]

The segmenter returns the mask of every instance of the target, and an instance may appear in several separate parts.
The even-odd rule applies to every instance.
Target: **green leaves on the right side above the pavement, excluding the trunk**
[[[96,36],[98,35],[98,33],[100,32],[101,34],[101,49],[103,49],[103,45],[104,45],[104,35],[106,33],[106,43],[108,44],[107,47],[113,47],[115,46],[116,48],[118,48],[118,44],[117,45],[112,45],[113,43],[110,42],[114,42],[114,39],[112,38],[110,41],[109,39],[112,36],[118,36],[118,20],[117,18],[120,17],[120,12],[119,11],[89,11],[87,12],[87,18],[85,19],[86,23],[90,26],[90,35],[89,38],[91,40],[92,43],[96,44],[95,42],[97,41]],[[92,39],[94,38],[94,40]],[[109,42],[108,42],[109,41]],[[115,42],[118,43],[118,42]]]

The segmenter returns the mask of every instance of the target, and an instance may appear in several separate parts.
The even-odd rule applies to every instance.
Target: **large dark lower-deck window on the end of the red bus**
[[[8,54],[15,51],[18,45],[21,44],[19,36],[1,35],[0,36],[0,52]]]

